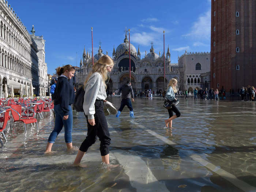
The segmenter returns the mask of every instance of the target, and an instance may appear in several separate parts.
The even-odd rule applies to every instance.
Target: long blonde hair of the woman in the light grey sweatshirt
[[[99,60],[97,61],[97,63],[95,63],[93,65],[91,72],[87,76],[87,78],[84,82],[83,88],[86,86],[86,83],[90,79],[91,75],[95,72],[98,72],[102,76],[102,80],[103,80],[105,89],[107,89],[105,81],[108,79],[108,71],[107,71],[106,67],[113,66],[113,65],[114,65],[114,61],[108,55],[103,55],[101,58],[99,58]]]

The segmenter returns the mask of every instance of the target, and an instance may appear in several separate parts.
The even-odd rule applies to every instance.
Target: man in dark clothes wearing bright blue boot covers
[[[133,95],[131,82],[127,81],[122,87],[120,87],[119,91],[121,91],[122,93],[122,100],[121,100],[120,108],[117,111],[116,117],[120,116],[125,105],[127,105],[127,107],[130,110],[130,117],[134,117],[133,108],[132,108],[132,102],[134,102],[134,95]],[[117,90],[113,94],[118,93],[119,91]]]

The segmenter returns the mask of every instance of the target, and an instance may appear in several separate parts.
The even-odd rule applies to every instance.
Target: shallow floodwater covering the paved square
[[[107,98],[118,109],[120,97]],[[6,132],[0,147],[0,191],[256,191],[255,102],[179,98],[181,116],[165,129],[168,113],[161,98],[135,98],[135,119],[125,106],[119,118],[107,116],[110,168],[101,163],[99,141],[74,167],[77,151],[67,151],[64,129],[44,154],[53,116],[37,128]],[[86,137],[83,113],[74,112],[72,140]],[[1,136],[2,137],[2,136]],[[1,138],[3,140],[3,138]]]

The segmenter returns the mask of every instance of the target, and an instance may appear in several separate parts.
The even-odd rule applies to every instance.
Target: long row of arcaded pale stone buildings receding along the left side
[[[21,84],[23,95],[25,85],[32,85],[34,94],[39,95],[40,78],[44,74],[39,73],[39,62],[42,59],[38,53],[42,51],[36,39],[30,36],[8,1],[0,0],[0,97],[4,97],[6,91],[10,95],[11,87],[18,94]],[[46,65],[44,60],[41,63],[42,66]],[[42,68],[46,70],[47,77],[47,67]]]

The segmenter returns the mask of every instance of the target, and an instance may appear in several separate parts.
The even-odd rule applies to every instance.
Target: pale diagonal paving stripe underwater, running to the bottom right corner
[[[130,122],[132,122],[132,120],[130,120]],[[136,125],[138,125],[139,127],[142,127],[143,129],[145,129],[145,131],[147,131],[148,133],[154,135],[155,137],[157,137],[158,139],[161,139],[163,142],[170,144],[170,145],[176,145],[176,143],[170,141],[169,139],[158,135],[157,133],[155,133],[154,131],[151,131],[149,129],[146,129],[146,127],[144,127],[143,125],[140,125],[136,122],[132,122]],[[256,192],[256,188],[247,184],[244,181],[239,180],[236,176],[234,176],[233,174],[226,172],[225,170],[219,168],[216,165],[213,165],[212,163],[204,160],[203,158],[201,158],[199,155],[190,155],[190,157],[196,161],[199,162],[201,165],[203,165],[204,167],[207,167],[208,169],[210,169],[211,171],[213,171],[214,173],[217,173],[219,176],[225,178],[227,181],[231,182],[233,185],[235,185],[236,187],[242,189],[245,192]]]

